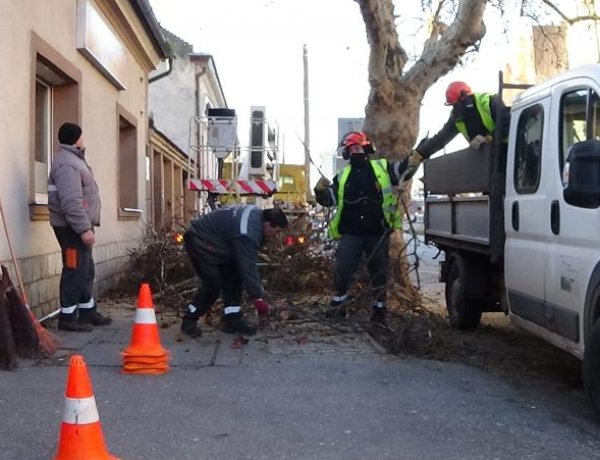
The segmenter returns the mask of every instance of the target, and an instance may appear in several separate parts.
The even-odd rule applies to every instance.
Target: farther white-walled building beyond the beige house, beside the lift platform
[[[149,99],[157,134],[151,146],[150,206],[159,231],[185,226],[205,211],[205,194],[191,192],[188,179],[219,177],[218,159],[207,146],[207,111],[227,108],[213,56],[194,52],[191,44],[168,30],[163,34],[173,59],[169,70],[156,71],[166,76],[151,81]]]

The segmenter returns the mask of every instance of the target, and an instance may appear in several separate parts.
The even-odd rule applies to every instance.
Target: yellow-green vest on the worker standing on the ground
[[[390,228],[394,230],[402,228],[402,213],[399,211],[398,200],[392,190],[392,180],[387,172],[387,160],[382,158],[380,160],[370,160],[369,164],[373,168],[375,178],[379,186],[381,187],[381,194],[383,201],[381,203],[381,210],[385,221],[388,223]],[[328,233],[330,238],[341,238],[339,232],[340,220],[342,218],[342,212],[344,209],[344,189],[346,188],[346,181],[350,175],[352,166],[346,166],[340,173],[338,183],[338,196],[337,196],[337,210],[333,219],[329,222]]]

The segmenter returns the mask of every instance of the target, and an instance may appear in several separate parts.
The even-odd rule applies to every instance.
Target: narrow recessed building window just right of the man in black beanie
[[[137,129],[132,120],[132,117],[119,113],[119,216],[137,218],[140,213],[137,190]]]

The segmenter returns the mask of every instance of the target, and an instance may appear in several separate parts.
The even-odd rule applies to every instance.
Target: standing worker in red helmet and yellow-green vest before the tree
[[[315,198],[325,207],[336,207],[328,233],[339,239],[334,289],[327,316],[344,316],[348,289],[363,254],[371,280],[371,321],[385,323],[386,284],[390,234],[402,227],[402,213],[393,186],[399,185],[408,168],[408,159],[390,163],[371,159],[375,149],[362,132],[346,134],[338,150],[349,164],[331,183],[321,178]]]

